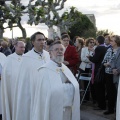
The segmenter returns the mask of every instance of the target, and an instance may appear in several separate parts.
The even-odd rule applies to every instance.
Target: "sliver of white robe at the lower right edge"
[[[116,120],[120,120],[120,76],[119,76],[119,86],[118,86],[118,94],[117,94]]]

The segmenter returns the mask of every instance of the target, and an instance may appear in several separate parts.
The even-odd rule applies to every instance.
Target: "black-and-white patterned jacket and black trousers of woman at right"
[[[111,40],[110,40],[111,41]],[[111,59],[113,59],[115,55],[115,46],[117,44],[112,44],[112,47],[110,47],[103,59],[103,64],[105,66],[105,85],[106,85],[106,92],[107,92],[107,98],[108,98],[108,104],[107,104],[107,111],[104,112],[105,115],[114,113],[115,108],[115,86],[113,83],[113,71],[111,66],[109,65],[109,62],[111,62]]]

